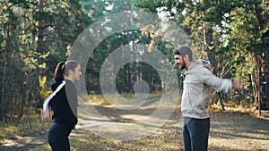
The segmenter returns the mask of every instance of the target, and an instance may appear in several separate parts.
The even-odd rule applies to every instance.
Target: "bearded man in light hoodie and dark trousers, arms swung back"
[[[211,89],[228,93],[231,88],[241,89],[239,80],[221,79],[210,71],[210,63],[193,61],[189,46],[179,46],[174,51],[175,63],[185,69],[181,100],[183,115],[183,141],[185,151],[206,151],[210,129],[208,105]]]

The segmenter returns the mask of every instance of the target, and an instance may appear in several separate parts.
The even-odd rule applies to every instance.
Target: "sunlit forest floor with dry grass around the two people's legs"
[[[154,104],[152,104],[154,106]],[[125,113],[117,112],[112,107],[97,106],[101,113],[118,117]],[[152,111],[143,110],[141,114]],[[210,151],[269,151],[269,116],[263,113],[241,113],[210,109],[211,129],[209,138]],[[133,114],[132,118],[135,114]],[[177,108],[159,130],[144,138],[132,141],[111,141],[83,129],[81,123],[70,136],[71,150],[183,150],[181,114]],[[120,121],[119,121],[120,122]],[[125,121],[132,122],[132,121]],[[109,125],[109,123],[106,123]],[[111,126],[111,125],[110,125]],[[5,138],[0,141],[1,151],[49,150],[47,131],[41,130],[30,136]]]

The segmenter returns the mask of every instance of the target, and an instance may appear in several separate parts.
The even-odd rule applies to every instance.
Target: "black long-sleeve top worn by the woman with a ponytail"
[[[51,88],[53,91],[62,83],[56,81]],[[70,80],[65,80],[65,86],[56,93],[49,104],[53,111],[53,119],[57,123],[65,124],[67,127],[74,129],[77,123],[77,94],[74,83]]]

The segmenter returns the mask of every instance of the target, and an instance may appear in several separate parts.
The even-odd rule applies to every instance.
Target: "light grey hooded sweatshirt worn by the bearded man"
[[[188,66],[184,72],[184,89],[181,102],[183,116],[205,119],[209,117],[208,105],[210,103],[211,89],[228,93],[232,88],[232,82],[221,79],[210,71],[210,63],[197,60]]]

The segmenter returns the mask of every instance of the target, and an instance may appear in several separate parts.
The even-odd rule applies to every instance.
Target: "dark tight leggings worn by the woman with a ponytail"
[[[48,130],[48,144],[52,151],[70,151],[69,134],[71,128],[54,122]]]

